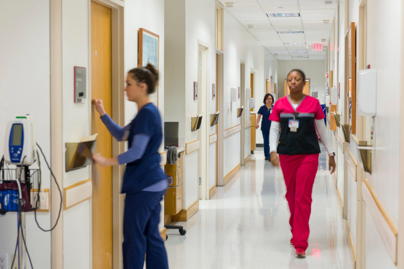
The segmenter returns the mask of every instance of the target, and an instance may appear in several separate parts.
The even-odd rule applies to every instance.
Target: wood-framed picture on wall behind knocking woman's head
[[[138,60],[139,67],[145,67],[148,63],[155,66],[159,71],[159,35],[146,29],[139,29],[138,37]],[[149,95],[150,101],[159,106],[159,82],[156,85],[156,91]]]

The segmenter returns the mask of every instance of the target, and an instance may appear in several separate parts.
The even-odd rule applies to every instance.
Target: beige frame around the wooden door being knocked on
[[[114,0],[88,0],[88,72],[91,74],[91,2],[111,9],[111,70],[112,70],[112,115],[111,118],[120,126],[125,125],[125,94],[121,90],[125,85],[124,66],[124,3]],[[91,76],[88,76],[89,96],[91,96]],[[91,111],[92,101],[88,102]],[[91,113],[88,122],[91,123]],[[89,124],[91,132],[91,124]],[[125,145],[115,139],[112,140],[112,155],[116,156],[125,151]],[[124,196],[121,195],[121,181],[125,172],[124,166],[112,168],[112,249],[113,268],[122,268],[122,241],[123,241],[123,209]],[[89,172],[91,177],[91,172]],[[92,208],[92,199],[90,199]],[[89,236],[90,236],[90,268],[92,268],[92,210],[89,210]],[[119,257],[119,258],[117,258]]]

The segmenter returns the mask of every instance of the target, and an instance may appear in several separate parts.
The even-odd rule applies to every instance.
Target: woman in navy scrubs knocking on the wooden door
[[[160,168],[159,147],[162,143],[162,122],[149,94],[156,89],[158,71],[151,64],[129,71],[125,92],[136,102],[138,113],[130,124],[118,126],[106,114],[102,100],[93,99],[100,119],[118,140],[128,140],[128,151],[106,158],[94,155],[101,166],[126,164],[121,193],[125,193],[122,243],[123,267],[168,268],[167,252],[160,237],[160,201],[168,187],[167,177]]]

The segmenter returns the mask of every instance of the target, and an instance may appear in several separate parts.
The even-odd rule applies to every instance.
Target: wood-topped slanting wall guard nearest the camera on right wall
[[[362,195],[366,206],[370,211],[372,219],[377,227],[377,230],[379,231],[380,237],[382,238],[387,251],[389,252],[394,263],[397,265],[397,227],[388,216],[369,181],[364,179],[363,182],[365,184],[362,184]]]

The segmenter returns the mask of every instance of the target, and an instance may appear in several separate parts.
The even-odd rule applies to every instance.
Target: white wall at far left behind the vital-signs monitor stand
[[[50,161],[49,1],[3,1],[0,9],[0,155],[6,124],[30,114],[36,141]],[[48,169],[41,157],[43,186],[49,188]],[[0,218],[0,253],[11,254],[17,239],[16,213]],[[42,228],[50,228],[50,213],[38,212]],[[33,213],[26,213],[26,240],[33,266],[51,267],[51,234],[39,231]]]

